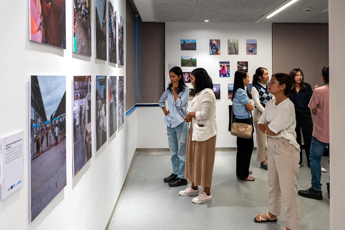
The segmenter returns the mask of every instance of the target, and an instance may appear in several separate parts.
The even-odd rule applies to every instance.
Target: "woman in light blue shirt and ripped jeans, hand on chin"
[[[169,71],[170,83],[159,99],[167,125],[169,150],[171,152],[172,173],[164,178],[170,187],[187,185],[185,179],[186,143],[188,136],[188,123],[184,121],[187,115],[189,89],[183,82],[183,73],[176,66]],[[169,110],[166,109],[168,101]]]

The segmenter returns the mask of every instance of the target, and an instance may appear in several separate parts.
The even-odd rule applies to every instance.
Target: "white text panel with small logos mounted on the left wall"
[[[8,197],[23,184],[24,131],[0,139],[0,198]]]

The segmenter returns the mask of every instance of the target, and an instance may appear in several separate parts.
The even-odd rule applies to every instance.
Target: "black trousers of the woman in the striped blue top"
[[[237,119],[235,122],[250,124],[249,118]],[[253,128],[254,133],[254,128]],[[245,179],[249,175],[250,158],[254,149],[253,134],[251,138],[237,137],[237,153],[236,153],[236,175]]]

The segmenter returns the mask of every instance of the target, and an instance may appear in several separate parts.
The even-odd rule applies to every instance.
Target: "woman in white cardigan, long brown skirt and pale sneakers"
[[[210,189],[217,135],[216,97],[212,90],[212,79],[205,69],[197,68],[191,72],[191,84],[196,95],[191,103],[191,112],[185,117],[186,122],[191,122],[187,139],[185,178],[192,184],[179,191],[179,194],[198,194],[192,202],[203,203],[212,200]],[[200,194],[199,185],[204,187]]]

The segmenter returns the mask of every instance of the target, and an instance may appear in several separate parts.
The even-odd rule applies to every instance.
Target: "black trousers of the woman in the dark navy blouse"
[[[303,109],[303,108],[297,108],[295,107],[295,113],[296,113],[296,141],[299,144],[299,147],[302,145],[301,140],[301,129],[302,129],[302,135],[304,140],[304,149],[305,149],[305,155],[307,157],[307,163],[308,166],[310,166],[310,146],[312,144],[312,134],[313,134],[313,120],[312,120],[312,114],[310,112],[309,108]],[[302,164],[302,148],[299,152],[299,164]]]

